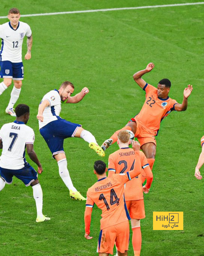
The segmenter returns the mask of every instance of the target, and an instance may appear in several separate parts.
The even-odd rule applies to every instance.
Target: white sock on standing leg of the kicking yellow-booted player
[[[77,189],[73,186],[72,180],[69,175],[69,171],[67,169],[67,159],[64,158],[62,160],[59,160],[57,164],[59,166],[59,175],[65,183],[65,185],[67,186],[67,188],[69,190],[72,190],[73,192],[76,192]]]

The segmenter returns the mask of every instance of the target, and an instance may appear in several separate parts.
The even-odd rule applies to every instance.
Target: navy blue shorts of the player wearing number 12
[[[0,62],[1,78],[12,78],[13,80],[23,80],[24,79],[24,65],[23,62],[13,63],[8,60]]]

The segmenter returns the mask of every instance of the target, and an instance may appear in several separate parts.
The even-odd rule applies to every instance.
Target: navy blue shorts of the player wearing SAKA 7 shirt
[[[22,180],[26,187],[37,179],[37,172],[29,164],[26,164],[24,168],[19,170],[11,170],[0,167],[0,174],[2,179],[5,180],[7,184],[12,184],[13,176],[15,176],[19,180]]]

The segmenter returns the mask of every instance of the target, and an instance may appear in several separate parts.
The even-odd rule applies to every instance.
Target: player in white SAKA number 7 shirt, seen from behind
[[[13,176],[22,180],[26,186],[33,188],[33,197],[37,208],[36,222],[50,220],[42,213],[43,208],[43,192],[37,179],[37,172],[43,172],[41,163],[39,162],[33,143],[35,134],[33,129],[27,126],[29,119],[29,106],[19,104],[16,107],[16,121],[4,124],[0,130],[0,148],[3,148],[0,158],[0,191],[5,184],[13,182]],[[27,163],[25,154],[35,162],[38,166],[37,172]]]

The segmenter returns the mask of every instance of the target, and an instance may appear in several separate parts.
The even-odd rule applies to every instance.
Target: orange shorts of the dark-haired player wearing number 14
[[[98,238],[98,253],[113,254],[114,244],[119,252],[128,251],[129,246],[129,221],[121,222],[100,231]]]

